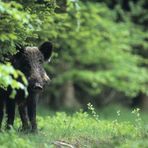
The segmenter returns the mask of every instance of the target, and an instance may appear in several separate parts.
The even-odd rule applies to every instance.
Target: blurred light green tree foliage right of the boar
[[[128,96],[148,93],[148,71],[141,66],[147,60],[133,48],[141,44],[147,47],[147,33],[130,20],[117,23],[116,14],[104,4],[78,4],[68,5],[67,14],[57,18],[61,24],[57,42],[62,52],[54,69],[60,75],[53,85],[70,79],[84,84],[91,95],[106,87]]]

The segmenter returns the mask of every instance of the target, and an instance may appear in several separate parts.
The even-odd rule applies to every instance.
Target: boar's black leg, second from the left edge
[[[15,117],[15,100],[14,99],[6,99],[6,129],[10,129],[14,123]]]

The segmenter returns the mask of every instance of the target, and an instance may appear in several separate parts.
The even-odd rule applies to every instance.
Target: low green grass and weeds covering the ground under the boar
[[[112,114],[109,119],[106,110],[95,111],[91,104],[88,108],[89,113],[81,110],[72,115],[65,112],[39,115],[36,134],[18,132],[20,121],[17,118],[14,129],[0,133],[0,148],[58,148],[59,145],[63,148],[148,147],[148,126],[139,109],[129,111],[109,107],[108,115]]]

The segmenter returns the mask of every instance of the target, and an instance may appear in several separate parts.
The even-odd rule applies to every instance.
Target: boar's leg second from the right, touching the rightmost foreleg
[[[18,103],[18,109],[22,121],[22,130],[28,130],[29,124],[26,110],[26,101],[21,101],[20,103]]]

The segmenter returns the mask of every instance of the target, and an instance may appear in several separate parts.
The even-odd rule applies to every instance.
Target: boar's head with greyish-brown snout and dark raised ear
[[[13,58],[13,66],[24,73],[29,90],[42,90],[50,80],[43,63],[51,57],[52,44],[45,42],[40,47],[19,47],[18,50]]]

